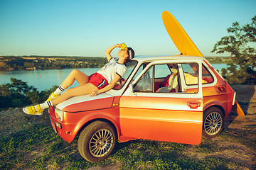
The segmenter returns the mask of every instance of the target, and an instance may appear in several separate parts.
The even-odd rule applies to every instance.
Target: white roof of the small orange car
[[[138,62],[145,62],[145,61],[155,61],[155,60],[206,60],[204,57],[198,56],[190,56],[190,55],[168,55],[168,56],[135,56],[132,60],[137,60]]]

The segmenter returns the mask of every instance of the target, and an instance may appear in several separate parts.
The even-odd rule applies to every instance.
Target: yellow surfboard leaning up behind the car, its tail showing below
[[[191,38],[188,36],[186,31],[181,27],[181,24],[178,23],[176,18],[174,18],[174,16],[171,15],[169,11],[164,11],[162,13],[162,18],[167,33],[178,48],[178,51],[181,52],[181,55],[193,55],[203,57],[203,55],[193,43]],[[233,106],[233,111],[235,111],[235,113],[237,113],[238,115],[245,117],[245,113],[243,113],[242,108],[236,100]]]

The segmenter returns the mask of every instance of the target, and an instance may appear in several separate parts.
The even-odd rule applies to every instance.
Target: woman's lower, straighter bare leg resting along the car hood
[[[93,84],[90,84],[90,83],[83,84],[83,85],[80,85],[80,86],[77,86],[77,87],[74,87],[71,89],[67,89],[60,96],[53,98],[53,100],[51,102],[53,103],[53,105],[57,105],[58,103],[68,100],[68,98],[70,98],[70,97],[90,94],[93,91],[97,91],[97,90],[98,90],[97,87],[94,86]]]

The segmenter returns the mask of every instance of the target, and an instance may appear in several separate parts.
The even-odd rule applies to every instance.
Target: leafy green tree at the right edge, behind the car
[[[232,63],[221,69],[229,84],[256,84],[256,16],[252,23],[240,26],[235,22],[227,29],[228,35],[221,38],[212,52],[228,53]]]

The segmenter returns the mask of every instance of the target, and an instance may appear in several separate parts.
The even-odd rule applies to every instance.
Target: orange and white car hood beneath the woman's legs
[[[67,101],[59,103],[56,107],[66,112],[92,111],[102,108],[111,108],[114,96],[111,94],[99,94],[95,97],[89,95],[75,96]]]

